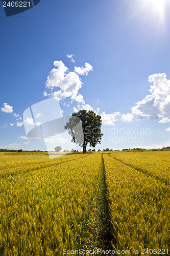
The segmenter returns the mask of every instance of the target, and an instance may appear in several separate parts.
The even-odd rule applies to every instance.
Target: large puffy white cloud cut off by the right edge
[[[166,74],[154,74],[149,76],[150,94],[137,102],[132,108],[132,114],[137,119],[159,119],[159,122],[168,122],[170,118],[170,80]]]

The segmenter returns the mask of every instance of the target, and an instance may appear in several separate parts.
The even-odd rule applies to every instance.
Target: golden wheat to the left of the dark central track
[[[81,247],[101,155],[18,158],[1,156],[0,254],[62,255]]]

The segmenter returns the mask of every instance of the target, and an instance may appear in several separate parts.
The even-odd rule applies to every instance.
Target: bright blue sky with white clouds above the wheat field
[[[46,150],[25,138],[22,115],[58,91],[65,115],[102,115],[97,150],[170,145],[169,10],[169,0],[41,0],[6,17],[1,3],[0,148]]]

